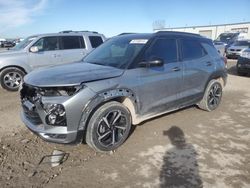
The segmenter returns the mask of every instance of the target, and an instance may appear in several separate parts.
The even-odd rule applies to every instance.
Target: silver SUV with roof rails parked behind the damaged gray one
[[[103,41],[104,35],[90,31],[30,36],[14,48],[0,52],[1,86],[17,91],[25,74],[40,67],[79,61]]]

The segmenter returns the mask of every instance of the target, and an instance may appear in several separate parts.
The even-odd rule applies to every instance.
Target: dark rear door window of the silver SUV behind
[[[63,50],[85,48],[84,40],[81,36],[63,36],[61,37],[61,44]]]

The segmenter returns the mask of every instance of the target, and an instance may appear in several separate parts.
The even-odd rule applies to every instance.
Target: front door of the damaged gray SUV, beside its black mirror
[[[140,85],[137,94],[142,115],[158,114],[178,106],[178,93],[182,80],[182,64],[178,61],[177,41],[156,38],[145,51],[142,60],[163,60],[160,67],[139,68]]]

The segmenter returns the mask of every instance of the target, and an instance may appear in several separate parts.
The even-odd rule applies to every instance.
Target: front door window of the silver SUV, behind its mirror
[[[59,50],[57,37],[43,37],[39,39],[33,46],[37,46],[39,51]]]

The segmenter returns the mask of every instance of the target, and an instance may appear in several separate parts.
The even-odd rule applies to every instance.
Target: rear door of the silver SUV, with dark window
[[[87,54],[83,36],[61,36],[60,46],[60,64],[80,61]]]

